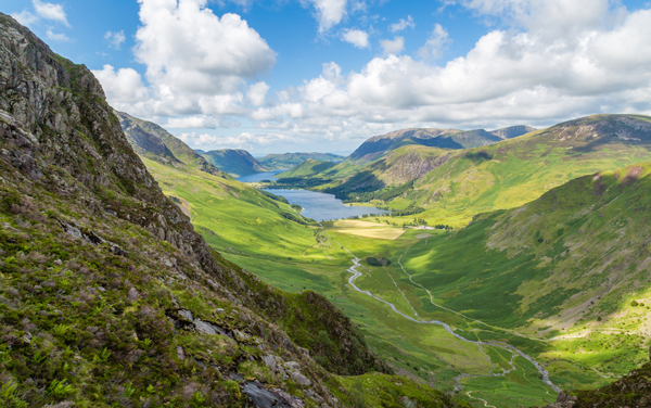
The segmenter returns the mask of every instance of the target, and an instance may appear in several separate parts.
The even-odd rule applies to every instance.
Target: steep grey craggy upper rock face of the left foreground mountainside
[[[136,222],[220,273],[203,238],[129,145],[92,73],[54,54],[11,17],[1,15],[0,23],[2,137],[17,148],[7,158],[34,181],[53,183],[98,213]],[[64,168],[78,183],[60,182],[49,166]],[[107,189],[139,204],[91,193]]]

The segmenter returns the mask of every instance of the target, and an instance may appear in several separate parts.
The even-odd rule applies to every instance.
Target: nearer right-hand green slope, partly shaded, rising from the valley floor
[[[545,340],[532,349],[552,375],[576,373],[576,383],[560,384],[593,386],[648,358],[650,197],[650,163],[584,176],[430,238],[401,265],[431,293],[419,290],[423,314],[437,304],[478,330]]]

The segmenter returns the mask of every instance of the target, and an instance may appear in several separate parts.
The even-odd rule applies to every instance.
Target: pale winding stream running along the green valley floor
[[[337,242],[337,244],[339,244],[339,242]],[[547,370],[546,370],[546,369],[545,369],[545,368],[544,368],[544,367],[542,367],[542,366],[541,366],[541,365],[540,365],[538,361],[534,360],[534,358],[533,358],[533,357],[531,357],[529,355],[527,355],[527,354],[525,354],[524,352],[520,350],[519,348],[516,348],[516,347],[514,347],[514,346],[512,346],[512,345],[510,345],[510,344],[505,344],[505,343],[498,343],[498,342],[483,342],[483,341],[473,341],[473,340],[468,340],[468,339],[465,339],[465,337],[463,337],[463,336],[461,336],[461,335],[457,334],[457,333],[456,333],[456,332],[455,332],[455,331],[454,331],[454,330],[450,328],[450,326],[449,326],[448,323],[445,323],[445,322],[443,322],[443,321],[439,321],[439,320],[423,320],[421,317],[419,317],[419,316],[418,316],[418,314],[416,314],[416,310],[414,310],[414,316],[416,316],[418,319],[417,319],[417,318],[413,318],[413,317],[411,317],[411,316],[407,316],[407,315],[405,315],[404,313],[401,313],[400,310],[398,310],[398,309],[396,308],[396,306],[395,306],[393,303],[391,303],[391,302],[387,302],[387,301],[385,301],[385,299],[383,299],[383,298],[380,298],[380,297],[378,297],[378,296],[373,295],[373,294],[372,294],[371,292],[369,292],[369,291],[363,291],[363,290],[359,289],[359,288],[358,288],[358,286],[355,284],[355,280],[356,280],[357,278],[359,278],[359,277],[361,277],[361,276],[362,276],[362,272],[360,272],[360,271],[358,271],[358,270],[357,270],[357,268],[361,267],[361,264],[359,263],[359,258],[358,258],[357,256],[353,255],[353,254],[352,254],[352,253],[350,253],[348,250],[346,250],[346,248],[345,248],[343,245],[341,245],[341,244],[340,244],[340,246],[341,246],[342,248],[344,248],[344,251],[346,251],[346,252],[348,253],[348,255],[350,255],[350,257],[352,257],[352,260],[353,260],[353,266],[352,266],[350,268],[346,269],[348,272],[353,273],[353,275],[350,276],[350,278],[348,278],[348,284],[350,284],[350,286],[352,286],[353,289],[355,289],[357,292],[363,293],[365,295],[367,295],[367,296],[370,296],[370,297],[372,297],[372,298],[376,299],[378,302],[382,302],[382,303],[384,303],[385,305],[387,305],[388,307],[391,307],[391,309],[392,309],[393,311],[395,311],[396,314],[398,314],[398,315],[403,316],[405,319],[408,319],[408,320],[411,320],[411,321],[413,321],[414,323],[420,323],[420,324],[438,324],[438,326],[443,327],[443,328],[444,328],[444,329],[445,329],[445,330],[446,330],[448,333],[450,333],[452,336],[455,336],[456,339],[458,339],[458,340],[460,340],[460,341],[462,341],[462,342],[465,342],[465,343],[472,343],[472,344],[476,344],[476,345],[477,345],[480,348],[482,348],[482,346],[494,346],[494,347],[498,347],[498,348],[506,349],[506,350],[508,350],[508,352],[510,352],[510,353],[512,353],[512,354],[513,354],[513,356],[512,356],[512,358],[511,358],[511,361],[510,361],[510,366],[511,366],[511,369],[510,369],[510,370],[505,370],[505,369],[502,369],[502,372],[501,372],[501,373],[490,373],[490,374],[485,374],[485,375],[469,375],[469,374],[461,374],[461,375],[459,375],[459,377],[455,378],[455,381],[457,382],[457,390],[461,390],[461,383],[459,382],[459,379],[461,379],[461,378],[469,378],[469,377],[505,377],[505,375],[506,375],[506,374],[508,374],[509,372],[511,372],[511,371],[515,370],[515,366],[514,366],[514,364],[513,364],[513,360],[514,360],[514,358],[515,358],[515,355],[519,355],[520,357],[522,357],[522,358],[525,358],[525,359],[526,359],[526,360],[528,360],[528,361],[529,361],[532,365],[534,365],[534,367],[536,368],[536,370],[538,370],[538,372],[540,373],[540,375],[542,375],[542,382],[545,382],[547,385],[549,385],[549,386],[550,386],[550,387],[551,387],[551,388],[552,388],[554,392],[557,392],[557,393],[560,393],[560,392],[561,392],[561,388],[559,388],[559,387],[558,387],[556,384],[553,384],[553,383],[551,382],[551,380],[549,380],[549,372],[548,372],[548,371],[547,371]],[[401,258],[403,258],[403,257],[400,256],[400,259],[401,259]],[[400,264],[400,267],[403,267],[403,264]],[[407,271],[405,270],[405,268],[404,268],[404,267],[403,267],[403,271],[405,271],[405,273],[407,273]],[[407,275],[409,276],[409,278],[410,278],[410,280],[411,280],[411,276],[410,276],[409,273],[407,273]],[[393,279],[393,278],[392,278],[392,279]],[[413,282],[413,281],[411,280],[411,282]],[[395,283],[395,281],[394,281],[394,283]],[[413,282],[413,283],[414,283],[414,284],[417,284],[416,282]],[[397,284],[396,284],[396,286],[397,286]],[[420,288],[422,288],[422,285],[420,285],[420,284],[419,284],[419,286],[420,286]],[[424,289],[424,288],[423,288],[423,289]],[[425,291],[427,291],[427,290],[425,289]],[[430,293],[430,291],[427,291],[427,293]],[[431,296],[432,296],[432,294],[430,293],[430,297],[431,297]],[[405,297],[405,299],[407,299],[407,298]],[[409,301],[407,301],[407,303],[409,303]],[[434,304],[434,302],[432,302],[432,304]],[[411,306],[411,304],[410,304],[410,303],[409,303],[409,305]],[[435,305],[435,304],[434,304],[434,305]],[[412,308],[412,310],[413,310],[413,306],[411,306],[411,308]],[[490,358],[488,357],[488,359],[490,359]],[[473,397],[473,398],[476,398],[476,397]]]

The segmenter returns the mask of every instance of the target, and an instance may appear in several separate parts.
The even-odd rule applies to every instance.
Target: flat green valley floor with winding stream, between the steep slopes
[[[618,356],[605,347],[586,352],[580,337],[570,333],[545,337],[446,307],[454,285],[441,282],[435,297],[410,268],[454,232],[398,229],[401,233],[391,231],[384,239],[373,233],[383,229],[373,222],[324,222],[311,245],[293,257],[228,251],[225,256],[283,290],[326,295],[397,372],[477,407],[547,405],[560,388],[608,384],[643,359],[644,352],[633,345]],[[392,265],[367,266],[361,260],[367,256],[387,257]]]

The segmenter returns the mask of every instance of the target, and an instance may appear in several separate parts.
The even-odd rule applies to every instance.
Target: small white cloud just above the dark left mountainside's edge
[[[102,84],[106,99],[120,111],[129,103],[146,101],[149,98],[149,91],[136,69],[120,68],[116,72],[113,66],[106,64],[102,69],[92,73]]]

